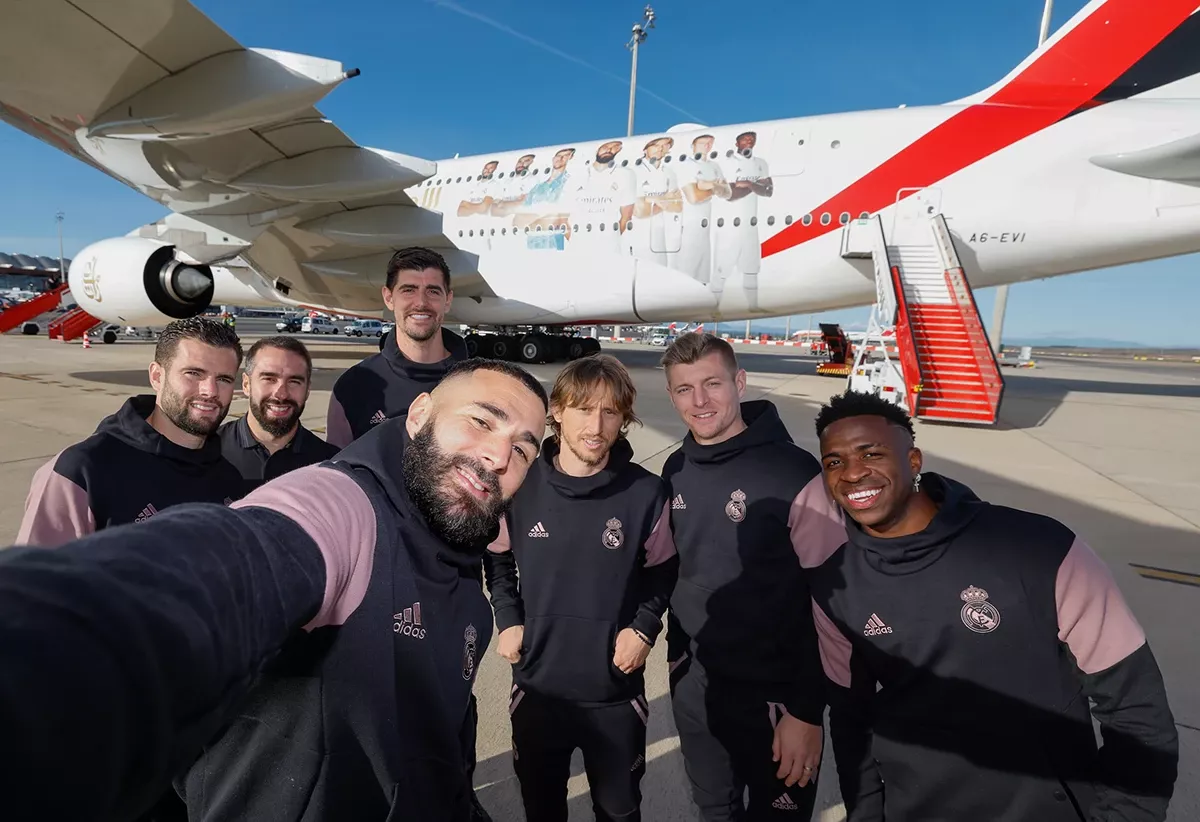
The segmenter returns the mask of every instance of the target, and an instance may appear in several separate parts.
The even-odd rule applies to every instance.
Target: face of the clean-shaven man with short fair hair
[[[737,422],[746,372],[731,372],[720,353],[713,352],[695,362],[667,368],[671,402],[692,437],[701,445],[719,443]]]

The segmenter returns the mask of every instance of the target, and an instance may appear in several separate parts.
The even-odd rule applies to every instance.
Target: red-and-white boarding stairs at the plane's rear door
[[[994,425],[1004,380],[946,218],[922,216],[890,238],[878,215],[857,221],[844,229],[842,256],[870,257],[876,283],[850,388],[884,395],[917,419]],[[893,329],[895,360],[883,338]]]

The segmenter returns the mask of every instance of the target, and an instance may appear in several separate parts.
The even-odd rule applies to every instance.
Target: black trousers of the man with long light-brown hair
[[[596,822],[641,822],[650,716],[644,696],[589,707],[514,685],[509,715],[527,822],[566,822],[566,780],[576,748],[583,751]]]

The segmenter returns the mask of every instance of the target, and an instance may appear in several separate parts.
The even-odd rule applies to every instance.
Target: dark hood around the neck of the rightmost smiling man
[[[920,485],[937,503],[937,514],[924,530],[892,539],[871,536],[846,517],[851,545],[881,574],[912,574],[932,565],[988,504],[967,486],[941,474],[922,473]]]

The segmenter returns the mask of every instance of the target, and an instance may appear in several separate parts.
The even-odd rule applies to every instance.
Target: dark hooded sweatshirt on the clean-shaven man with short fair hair
[[[715,445],[689,433],[662,469],[679,552],[667,658],[690,656],[820,725],[824,682],[797,546],[834,515],[821,504],[820,464],[775,406],[745,402],[742,416],[746,430]]]

